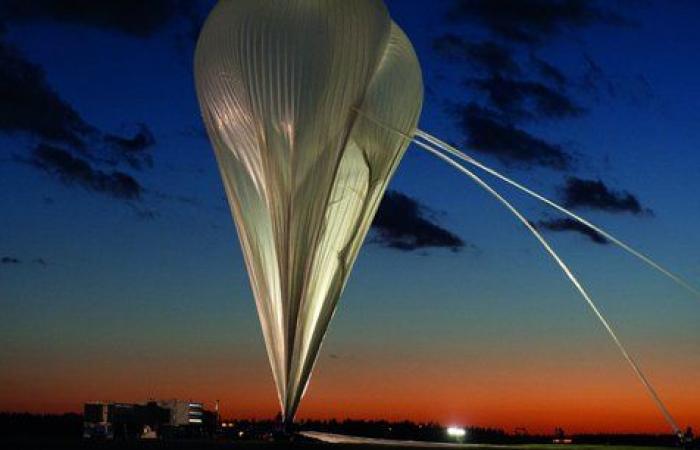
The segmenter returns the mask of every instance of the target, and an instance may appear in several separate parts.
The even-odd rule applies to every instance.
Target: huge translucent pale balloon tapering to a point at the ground
[[[420,66],[381,0],[221,0],[195,59],[290,421],[409,144],[388,128],[415,131]]]

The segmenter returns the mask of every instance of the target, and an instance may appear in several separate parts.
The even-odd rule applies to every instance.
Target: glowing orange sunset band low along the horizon
[[[4,374],[0,409],[79,412],[85,401],[149,398],[199,400],[213,408],[219,399],[226,418],[274,417],[279,406],[265,361],[239,362],[235,367],[210,367],[199,375],[184,366],[158,364],[147,377],[134,377],[128,374],[141,369],[124,367],[110,383],[94,369],[54,377]],[[549,433],[554,427],[568,433],[670,432],[633,376],[614,369],[596,366],[573,373],[534,360],[531,367],[516,371],[479,369],[476,363],[473,367],[416,361],[357,365],[357,361],[325,359],[319,362],[297,419],[407,419],[511,432],[526,428],[531,433]],[[700,382],[661,383],[659,390],[681,426],[700,423],[694,401],[700,398]]]

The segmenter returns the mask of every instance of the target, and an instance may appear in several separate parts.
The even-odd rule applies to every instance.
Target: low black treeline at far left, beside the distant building
[[[80,414],[0,413],[2,437],[79,437],[82,433]]]

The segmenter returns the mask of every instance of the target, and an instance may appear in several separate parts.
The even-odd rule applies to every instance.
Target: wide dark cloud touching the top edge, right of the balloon
[[[454,0],[447,19],[475,22],[500,38],[529,45],[565,30],[627,23],[593,0]]]

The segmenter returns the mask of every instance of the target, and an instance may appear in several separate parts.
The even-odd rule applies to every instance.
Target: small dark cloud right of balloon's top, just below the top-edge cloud
[[[456,34],[446,33],[433,40],[433,49],[443,57],[466,61],[489,73],[520,72],[511,50],[493,41],[471,43]]]

